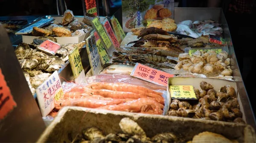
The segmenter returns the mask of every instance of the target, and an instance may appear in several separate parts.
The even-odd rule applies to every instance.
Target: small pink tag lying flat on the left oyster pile
[[[61,45],[48,39],[44,41],[41,45],[39,45],[37,48],[51,55],[55,55],[57,50],[61,48]]]

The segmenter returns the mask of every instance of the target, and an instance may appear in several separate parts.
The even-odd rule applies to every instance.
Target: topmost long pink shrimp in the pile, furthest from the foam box
[[[109,82],[94,82],[87,86],[88,88],[95,89],[95,90],[114,90],[114,91],[124,91],[124,92],[133,92],[140,95],[147,96],[148,93],[154,93],[157,95],[162,95],[154,90],[137,86],[133,84],[125,84],[125,83],[109,83]]]

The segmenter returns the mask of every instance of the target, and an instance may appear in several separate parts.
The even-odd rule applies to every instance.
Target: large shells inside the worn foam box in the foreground
[[[75,139],[69,140],[72,143],[184,143],[184,137],[175,135],[171,132],[159,133],[154,137],[147,137],[144,130],[130,118],[122,118],[119,123],[122,133],[104,135],[103,132],[95,127],[84,129],[82,135],[77,135]],[[212,132],[201,132],[195,135],[187,143],[232,143],[226,137]]]

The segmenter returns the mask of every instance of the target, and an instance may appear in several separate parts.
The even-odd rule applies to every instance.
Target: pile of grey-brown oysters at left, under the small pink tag
[[[35,94],[35,89],[54,71],[59,70],[65,64],[71,50],[76,47],[81,50],[84,45],[85,42],[61,45],[56,56],[52,56],[36,49],[38,45],[20,43],[15,49],[15,54],[32,94]]]

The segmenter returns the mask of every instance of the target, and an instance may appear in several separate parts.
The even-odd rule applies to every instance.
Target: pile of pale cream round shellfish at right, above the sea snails
[[[216,53],[215,50],[196,51],[189,56],[189,53],[181,53],[179,62],[175,70],[188,70],[190,73],[201,73],[206,76],[232,76],[233,70],[230,68],[230,58],[226,51]]]

